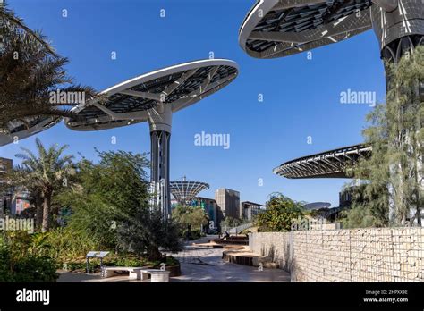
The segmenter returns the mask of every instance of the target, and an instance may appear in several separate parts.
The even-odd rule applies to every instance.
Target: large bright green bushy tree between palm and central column
[[[105,248],[116,248],[116,230],[148,206],[148,160],[125,151],[98,152],[98,164],[82,159],[74,185],[58,198],[69,206],[74,231],[89,235]]]

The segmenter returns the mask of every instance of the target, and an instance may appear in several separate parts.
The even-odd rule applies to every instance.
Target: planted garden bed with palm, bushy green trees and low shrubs
[[[108,266],[177,267],[163,252],[182,248],[183,227],[149,205],[145,156],[98,151],[94,163],[65,150],[37,139],[38,152],[22,148],[21,165],[7,173],[7,187],[30,191],[31,207],[19,217],[35,219],[36,232],[0,234],[0,281],[52,282],[56,270],[85,271],[93,250],[109,251]],[[98,268],[90,260],[90,271]]]

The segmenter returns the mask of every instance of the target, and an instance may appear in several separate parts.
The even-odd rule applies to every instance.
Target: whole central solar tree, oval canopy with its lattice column
[[[237,64],[225,59],[182,63],[149,72],[107,88],[101,93],[101,102],[93,100],[76,106],[73,109],[76,116],[65,119],[65,124],[72,130],[106,130],[148,122],[153,205],[168,218],[171,213],[169,150],[173,113],[224,88],[237,74]]]

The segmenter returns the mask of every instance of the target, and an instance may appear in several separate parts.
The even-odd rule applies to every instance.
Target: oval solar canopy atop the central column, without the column
[[[159,105],[170,105],[172,112],[177,112],[224,88],[237,74],[237,64],[223,59],[153,71],[106,89],[104,102],[75,107],[77,117],[65,123],[72,130],[105,130],[146,122]]]

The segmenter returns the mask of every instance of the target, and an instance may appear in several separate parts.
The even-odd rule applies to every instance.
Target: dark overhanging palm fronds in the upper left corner
[[[75,102],[52,102],[58,89],[80,92],[89,100],[97,95],[93,88],[75,85],[66,74],[68,59],[52,53],[37,31],[23,25],[0,4],[0,131],[9,132],[16,123],[29,128],[38,118],[74,117]]]

